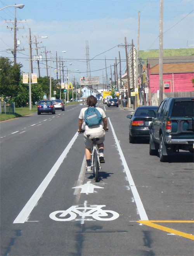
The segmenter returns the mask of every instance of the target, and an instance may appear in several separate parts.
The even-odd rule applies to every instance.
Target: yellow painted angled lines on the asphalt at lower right
[[[159,230],[162,230],[162,231],[165,231],[165,232],[168,232],[168,233],[172,233],[172,234],[175,234],[175,235],[179,235],[181,237],[185,237],[185,238],[188,238],[188,239],[191,239],[191,240],[194,240],[194,235],[191,235],[191,234],[187,234],[187,233],[184,233],[184,232],[180,232],[178,230],[174,230],[172,228],[167,228],[165,226],[161,226],[161,225],[158,225],[158,224],[155,224],[155,223],[194,223],[194,221],[170,221],[170,220],[164,220],[164,221],[156,221],[156,220],[145,220],[145,221],[137,221],[138,223],[142,223],[146,226],[150,226],[152,228],[157,228]]]

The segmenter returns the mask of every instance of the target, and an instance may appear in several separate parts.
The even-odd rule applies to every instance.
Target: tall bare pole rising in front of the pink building
[[[163,100],[163,0],[160,0],[159,18],[159,104]]]

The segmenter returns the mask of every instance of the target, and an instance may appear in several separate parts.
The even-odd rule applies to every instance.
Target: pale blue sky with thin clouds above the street
[[[139,13],[139,50],[159,49],[160,0],[0,0],[0,9],[15,3],[25,5],[23,9],[16,8],[17,40],[20,41],[17,63],[23,64],[21,70],[24,73],[29,71],[29,28],[33,55],[36,55],[36,36],[40,47],[38,55],[43,57],[41,76],[46,75],[46,47],[49,75],[51,66],[55,79],[56,52],[58,59],[60,56],[64,61],[64,70],[68,66],[69,79],[87,77],[90,70],[91,76],[98,76],[102,83],[106,67],[110,77],[115,58],[118,64],[119,51],[124,74],[126,57],[123,45],[126,37],[128,50],[132,40],[137,49]],[[14,17],[14,7],[0,11],[0,56],[9,57],[11,61],[13,55],[8,49],[14,47],[14,30],[10,29],[14,22],[5,20],[14,21]],[[38,38],[42,36],[48,38]],[[163,0],[163,49],[187,47],[194,47],[194,1]],[[88,63],[87,57],[90,59]],[[38,73],[36,61],[33,62],[33,72]]]

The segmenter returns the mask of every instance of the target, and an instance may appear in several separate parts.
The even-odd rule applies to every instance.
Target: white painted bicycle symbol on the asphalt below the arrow
[[[75,219],[76,221],[111,221],[117,219],[119,217],[118,212],[103,210],[102,207],[106,205],[84,205],[83,207],[79,207],[79,205],[73,205],[69,207],[66,211],[55,211],[52,212],[49,217],[55,221],[71,221]],[[81,216],[81,219],[76,219],[77,215]],[[90,218],[85,218],[90,217]],[[94,219],[92,219],[94,218]]]

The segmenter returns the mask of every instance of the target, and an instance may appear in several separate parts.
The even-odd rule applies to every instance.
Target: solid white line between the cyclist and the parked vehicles
[[[110,120],[109,117],[108,117],[108,120],[109,120],[109,123],[111,125],[113,136],[114,136],[114,139],[116,141],[116,145],[117,145],[118,151],[120,153],[121,160],[123,162],[123,166],[124,166],[124,169],[125,169],[125,172],[126,172],[126,176],[128,178],[128,181],[129,181],[130,188],[131,188],[132,193],[133,193],[133,197],[134,197],[135,203],[137,205],[137,211],[138,211],[138,213],[140,215],[140,219],[141,220],[149,220],[148,217],[147,217],[147,214],[145,212],[144,205],[142,204],[142,201],[140,199],[139,193],[137,192],[137,188],[136,188],[135,183],[133,181],[132,175],[131,175],[130,170],[128,168],[128,165],[126,163],[125,157],[124,157],[123,152],[121,150],[121,146],[120,146],[120,144],[118,142],[118,139],[117,139],[116,134],[114,132],[113,125],[111,124],[111,120]]]

